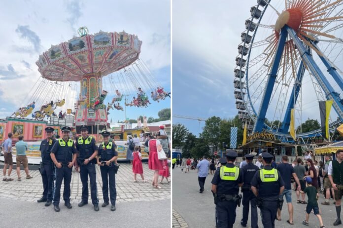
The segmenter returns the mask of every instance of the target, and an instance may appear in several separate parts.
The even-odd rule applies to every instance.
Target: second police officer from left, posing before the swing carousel
[[[55,163],[55,190],[54,190],[54,210],[60,211],[61,185],[64,181],[63,199],[68,209],[70,204],[70,181],[72,166],[76,161],[77,153],[74,142],[69,139],[70,127],[62,128],[62,139],[54,144],[51,149],[51,159]]]

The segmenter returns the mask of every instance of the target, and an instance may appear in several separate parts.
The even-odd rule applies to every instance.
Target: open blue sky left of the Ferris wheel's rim
[[[173,0],[172,7],[173,114],[234,117],[234,61],[249,6],[225,0],[196,5]],[[204,121],[182,118],[172,121],[196,135],[205,125]]]

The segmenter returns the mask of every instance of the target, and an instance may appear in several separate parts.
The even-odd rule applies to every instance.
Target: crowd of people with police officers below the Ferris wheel
[[[213,175],[212,192],[216,204],[216,227],[233,227],[236,219],[236,207],[242,203],[242,219],[240,225],[247,226],[249,207],[251,210],[251,227],[258,228],[257,208],[261,210],[262,224],[265,228],[274,228],[274,221],[281,221],[282,205],[287,205],[288,225],[299,222],[293,220],[292,192],[296,193],[296,203],[306,205],[303,225],[309,226],[309,214],[318,219],[320,228],[325,228],[321,216],[324,205],[329,206],[334,200],[337,213],[334,226],[341,222],[341,198],[343,195],[343,151],[336,152],[336,160],[331,155],[324,156],[324,162],[312,160],[311,152],[304,157],[289,163],[287,155],[280,162],[275,162],[274,156],[268,152],[261,153],[253,163],[252,154],[246,154],[236,162],[237,153],[229,151],[226,158],[179,158],[171,160],[172,169],[179,167],[185,173],[197,169],[199,193],[204,192],[206,177]],[[292,184],[293,182],[293,184]],[[239,193],[242,193],[242,197]],[[319,194],[323,193],[325,201],[318,204]],[[242,198],[242,199],[240,199]],[[283,201],[285,200],[285,203]]]

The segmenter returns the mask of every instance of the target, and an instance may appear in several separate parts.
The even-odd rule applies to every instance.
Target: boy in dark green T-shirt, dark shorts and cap
[[[318,207],[319,194],[316,188],[312,186],[312,178],[307,177],[305,181],[307,183],[307,187],[305,188],[304,191],[300,191],[300,192],[307,193],[309,200],[308,200],[308,205],[306,206],[306,213],[307,213],[306,220],[303,221],[303,224],[306,226],[309,226],[309,213],[311,213],[313,209],[314,215],[318,217],[320,228],[325,228],[325,226],[323,225],[323,220],[319,214],[319,207]]]

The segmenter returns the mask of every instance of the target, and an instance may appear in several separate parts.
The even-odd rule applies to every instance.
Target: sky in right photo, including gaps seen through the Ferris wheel
[[[283,11],[284,1],[272,1],[272,4],[279,12]],[[238,56],[238,45],[241,44],[240,35],[245,30],[245,20],[251,18],[250,7],[255,5],[256,0],[210,2],[198,0],[196,4],[191,0],[172,1],[173,114],[206,119],[213,115],[233,118],[238,113],[235,107],[233,83],[235,59]],[[261,23],[274,25],[276,19],[274,10],[268,8]],[[273,33],[270,28],[262,28],[258,31],[255,41],[264,40]],[[342,30],[336,31],[333,35],[341,38]],[[342,45],[336,47],[342,50],[339,49]],[[258,48],[254,48],[255,52],[252,53],[255,55],[262,53],[266,46]],[[321,47],[322,50],[326,50],[325,48],[325,46]],[[318,57],[314,60],[317,64],[321,62]],[[342,62],[342,57],[338,56],[336,65],[342,66]],[[326,69],[323,73],[328,75]],[[327,76],[327,79],[330,83],[333,82],[331,76]],[[309,74],[305,74],[302,88],[303,110],[301,117],[300,114],[296,116],[296,123],[300,123],[300,120],[305,122],[308,118],[319,120],[318,100],[312,80]],[[292,88],[292,86],[293,84],[289,83],[288,87]],[[272,116],[274,113],[282,116],[283,119],[283,115],[278,113],[280,103],[277,102],[277,95],[280,94],[279,91],[291,91],[291,89],[280,87],[281,89],[276,88],[278,91],[275,93],[276,99],[272,98],[268,108],[267,118],[270,120],[273,117],[280,119],[276,115]],[[333,87],[343,94],[337,84]],[[263,91],[263,86],[255,89]],[[287,94],[287,99],[289,95],[290,92]],[[259,104],[258,102],[256,104],[255,109],[258,111]],[[332,119],[336,120],[337,114],[334,111],[331,114]],[[196,135],[202,132],[202,127],[205,125],[204,121],[199,123],[198,120],[182,118],[173,118],[172,122],[184,124]]]

